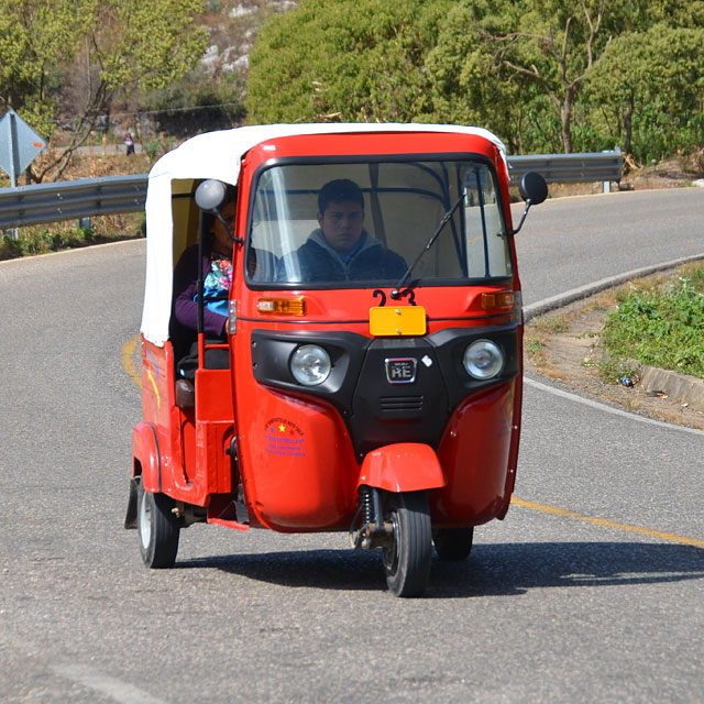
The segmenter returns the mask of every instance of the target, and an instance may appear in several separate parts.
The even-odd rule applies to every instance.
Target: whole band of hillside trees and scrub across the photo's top
[[[28,183],[244,122],[480,124],[632,168],[704,146],[704,0],[0,0],[0,113],[50,140]]]

